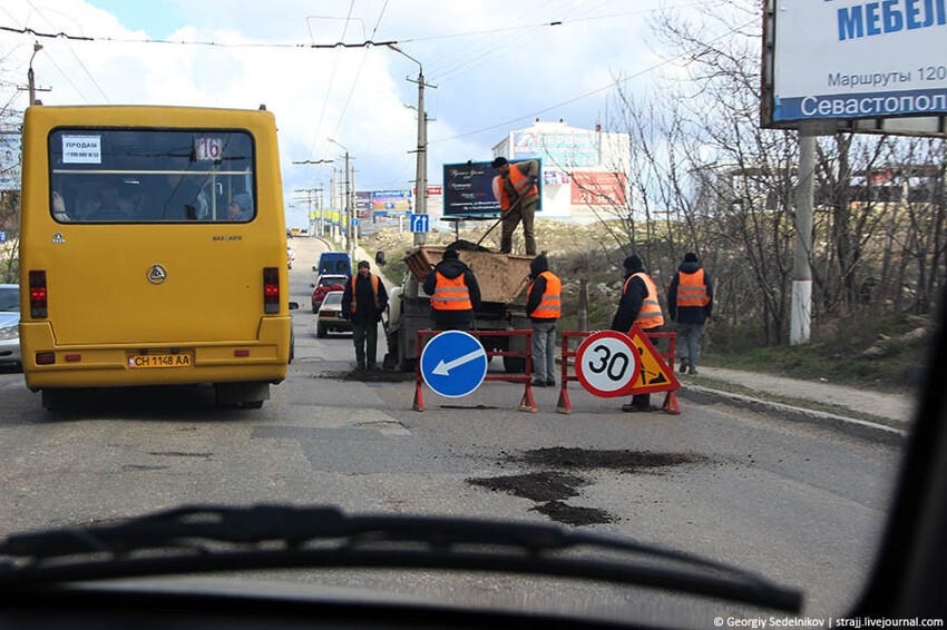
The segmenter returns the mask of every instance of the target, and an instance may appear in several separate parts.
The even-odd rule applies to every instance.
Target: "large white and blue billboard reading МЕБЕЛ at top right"
[[[767,0],[764,126],[944,132],[947,0]],[[848,121],[863,120],[851,126]]]

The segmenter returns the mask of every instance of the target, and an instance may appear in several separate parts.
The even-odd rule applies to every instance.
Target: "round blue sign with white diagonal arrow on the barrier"
[[[472,394],[487,375],[487,352],[473,335],[445,331],[421,351],[421,376],[436,394],[459,398]]]

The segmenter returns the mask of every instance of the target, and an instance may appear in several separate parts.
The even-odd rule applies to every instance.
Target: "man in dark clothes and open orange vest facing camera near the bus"
[[[384,283],[371,273],[368,260],[359,263],[359,273],[345,283],[342,292],[342,316],[352,322],[355,367],[374,370],[378,356],[378,323],[388,307]]]

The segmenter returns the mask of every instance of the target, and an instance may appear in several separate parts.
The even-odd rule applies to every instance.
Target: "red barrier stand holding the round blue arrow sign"
[[[525,351],[487,351],[478,337],[525,336]],[[430,338],[427,343],[424,341]],[[414,367],[414,411],[424,411],[422,385],[436,394],[459,398],[477,391],[485,381],[525,383],[519,411],[536,413],[533,398],[533,331],[418,331],[421,354]],[[523,357],[524,374],[487,374],[492,356]]]

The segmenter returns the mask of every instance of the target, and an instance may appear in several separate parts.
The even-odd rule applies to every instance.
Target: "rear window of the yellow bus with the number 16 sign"
[[[62,223],[246,223],[256,216],[247,131],[59,128],[50,211]]]

